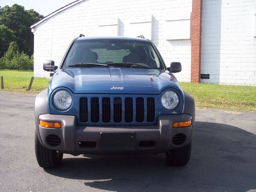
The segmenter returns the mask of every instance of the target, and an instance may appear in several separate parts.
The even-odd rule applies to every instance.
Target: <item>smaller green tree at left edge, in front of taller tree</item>
[[[7,51],[10,42],[17,41],[13,31],[4,25],[0,25],[0,57]]]

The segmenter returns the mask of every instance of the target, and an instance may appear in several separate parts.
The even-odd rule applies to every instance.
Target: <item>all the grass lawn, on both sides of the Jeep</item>
[[[0,70],[4,76],[4,89],[19,93],[39,93],[48,87],[49,79],[34,78],[32,88],[28,91],[32,71]],[[256,86],[229,86],[213,84],[180,83],[182,89],[190,93],[196,107],[219,108],[256,112]]]

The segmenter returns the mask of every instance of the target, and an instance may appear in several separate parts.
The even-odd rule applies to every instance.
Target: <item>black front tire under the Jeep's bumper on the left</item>
[[[42,146],[37,134],[35,134],[35,152],[38,165],[42,168],[55,168],[62,162],[63,153]]]

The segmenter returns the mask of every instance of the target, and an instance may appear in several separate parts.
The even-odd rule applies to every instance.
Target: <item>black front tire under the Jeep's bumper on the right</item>
[[[184,166],[188,164],[191,154],[191,141],[188,145],[178,148],[171,149],[166,153],[166,162],[172,166]]]

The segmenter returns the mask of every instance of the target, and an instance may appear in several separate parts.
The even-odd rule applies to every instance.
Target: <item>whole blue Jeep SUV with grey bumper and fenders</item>
[[[143,36],[85,37],[70,44],[48,89],[35,101],[39,166],[60,165],[63,154],[166,153],[183,166],[191,152],[194,99]]]

